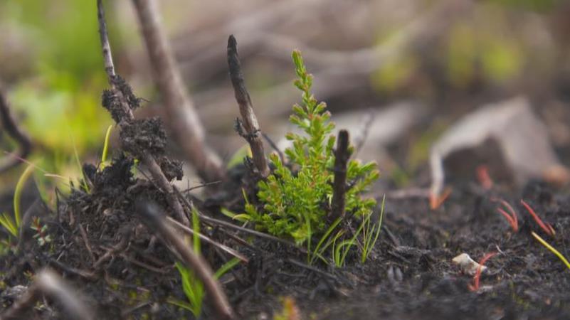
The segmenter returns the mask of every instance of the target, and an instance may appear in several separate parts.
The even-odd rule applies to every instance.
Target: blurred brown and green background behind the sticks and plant
[[[425,186],[438,137],[466,114],[517,96],[545,124],[556,155],[569,159],[569,1],[157,2],[206,142],[225,161],[245,144],[233,132],[232,33],[260,127],[280,146],[300,100],[290,59],[298,48],[317,99],[337,128],[350,130],[359,157],[379,162],[389,186]],[[137,117],[160,115],[131,1],[107,1],[107,21],[118,73],[145,100]],[[95,0],[1,1],[0,82],[34,143],[31,161],[67,177],[80,174],[77,158],[100,159],[112,120],[100,107],[107,83]],[[4,155],[14,149],[0,138]],[[22,169],[1,177],[3,192]]]

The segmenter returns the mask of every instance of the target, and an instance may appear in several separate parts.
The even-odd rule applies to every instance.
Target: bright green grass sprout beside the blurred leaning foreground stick
[[[199,214],[196,208],[192,208],[192,228],[194,230],[194,235],[192,236],[192,244],[194,246],[194,252],[196,254],[201,253],[200,244],[200,220]],[[214,274],[214,279],[219,279],[223,274],[226,274],[233,267],[238,265],[240,260],[236,257],[226,262],[222,265]],[[168,299],[170,304],[180,306],[186,310],[189,310],[196,319],[202,314],[202,304],[204,302],[204,284],[200,281],[193,270],[185,267],[180,262],[176,262],[176,270],[178,270],[180,277],[182,279],[182,289],[186,295],[187,302],[180,301],[177,299]]]

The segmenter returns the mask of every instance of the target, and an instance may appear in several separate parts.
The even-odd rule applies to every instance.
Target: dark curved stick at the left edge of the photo
[[[0,87],[0,121],[4,130],[8,132],[10,137],[12,137],[19,144],[18,149],[14,151],[13,154],[7,155],[4,159],[0,161],[0,173],[8,171],[21,164],[21,159],[25,159],[28,154],[30,154],[32,143],[28,134],[23,132],[23,130],[18,127],[16,120],[12,117],[10,112],[10,106],[8,100],[6,99],[6,94],[4,90]]]

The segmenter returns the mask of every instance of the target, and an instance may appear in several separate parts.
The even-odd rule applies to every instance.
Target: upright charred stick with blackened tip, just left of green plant
[[[253,105],[243,80],[241,63],[238,56],[238,42],[236,38],[228,38],[228,65],[230,69],[231,84],[236,94],[236,101],[240,107],[241,123],[246,132],[241,132],[242,137],[249,143],[251,154],[253,154],[253,164],[258,169],[260,176],[267,177],[270,173],[265,152],[263,151],[263,141],[261,139],[258,119],[253,113]]]

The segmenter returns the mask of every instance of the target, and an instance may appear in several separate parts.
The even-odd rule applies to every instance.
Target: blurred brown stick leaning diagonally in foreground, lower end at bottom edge
[[[174,253],[181,257],[184,265],[194,270],[196,276],[204,283],[204,288],[218,312],[216,319],[234,319],[235,316],[228,298],[223,293],[220,284],[213,279],[213,272],[206,261],[200,255],[196,255],[195,252],[190,250],[189,245],[186,245],[184,240],[176,235],[173,228],[167,224],[167,221],[164,219],[164,213],[161,212],[158,206],[152,203],[143,204],[143,201],[137,201],[137,203],[139,203],[137,211],[144,218],[147,227],[151,230],[156,230],[162,239],[168,242],[165,243],[167,247],[174,247],[176,251]]]

